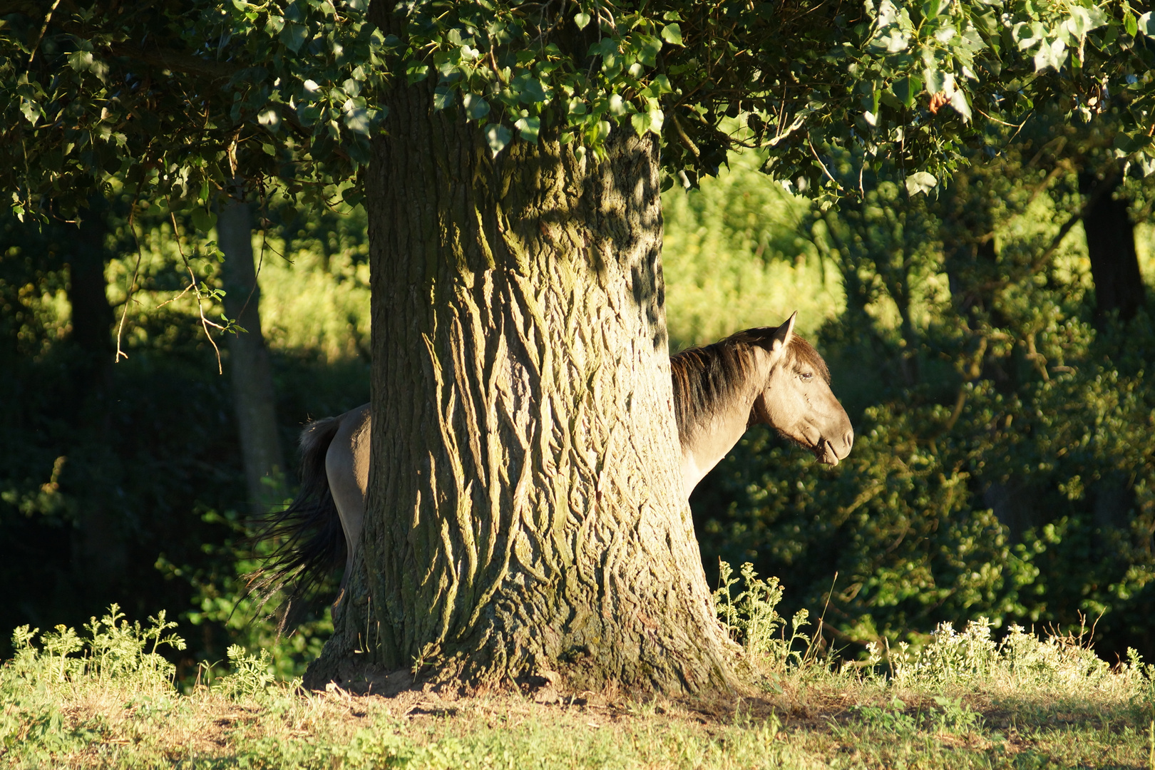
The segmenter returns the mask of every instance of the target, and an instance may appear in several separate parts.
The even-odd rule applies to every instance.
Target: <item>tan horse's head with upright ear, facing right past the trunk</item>
[[[766,337],[768,374],[754,399],[750,424],[765,423],[781,435],[814,453],[820,463],[837,465],[850,454],[855,431],[842,404],[830,391],[826,361],[795,336],[796,312]]]

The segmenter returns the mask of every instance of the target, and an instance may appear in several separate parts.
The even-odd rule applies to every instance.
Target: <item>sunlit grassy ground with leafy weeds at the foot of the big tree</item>
[[[940,626],[919,648],[841,661],[776,613],[782,589],[724,566],[720,618],[742,691],[355,697],[276,681],[267,652],[180,691],[164,615],[113,606],[80,633],[21,627],[0,667],[5,768],[1150,768],[1155,667],[1110,666],[1085,635]]]

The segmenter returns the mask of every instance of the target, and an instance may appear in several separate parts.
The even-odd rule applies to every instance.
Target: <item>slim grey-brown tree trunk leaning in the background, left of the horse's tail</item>
[[[261,289],[253,268],[253,225],[244,199],[228,196],[223,200],[217,237],[225,256],[224,312],[245,329],[229,336],[229,368],[245,484],[249,504],[268,510],[284,500],[285,464],[274,410],[273,369],[261,334]]]

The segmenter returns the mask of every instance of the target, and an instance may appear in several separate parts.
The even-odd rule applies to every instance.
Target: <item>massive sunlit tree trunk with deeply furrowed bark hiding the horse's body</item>
[[[423,87],[393,95],[366,177],[368,506],[306,682],[729,686],[679,476],[656,144],[616,127],[602,160],[545,136],[493,159]]]

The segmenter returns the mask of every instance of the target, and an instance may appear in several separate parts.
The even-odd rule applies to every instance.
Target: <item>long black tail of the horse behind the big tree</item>
[[[248,589],[267,604],[275,593],[286,597],[277,615],[278,631],[296,627],[318,598],[333,570],[345,561],[345,536],[329,489],[325,457],[341,417],[313,420],[300,433],[300,492],[284,510],[270,511],[253,539],[269,540],[273,552],[248,576]]]

